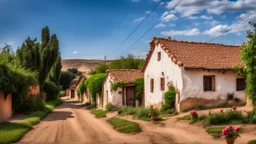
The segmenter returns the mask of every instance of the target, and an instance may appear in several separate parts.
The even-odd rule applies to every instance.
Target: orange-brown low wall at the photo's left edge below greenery
[[[6,99],[4,92],[0,91],[0,122],[12,117],[12,95],[9,94]]]

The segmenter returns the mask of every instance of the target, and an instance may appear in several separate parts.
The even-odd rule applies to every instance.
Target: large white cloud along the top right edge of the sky
[[[167,8],[172,9],[180,0],[168,2]],[[255,10],[255,0],[183,0],[177,5],[177,10],[183,17],[199,14],[206,11],[211,14],[221,14],[223,12],[242,12]]]

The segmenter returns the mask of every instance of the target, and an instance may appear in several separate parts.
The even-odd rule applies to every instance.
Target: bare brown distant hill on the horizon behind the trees
[[[62,59],[62,70],[65,71],[68,68],[77,68],[81,72],[89,72],[97,65],[103,64],[104,60],[88,60],[88,59]],[[106,61],[109,63],[110,61]]]

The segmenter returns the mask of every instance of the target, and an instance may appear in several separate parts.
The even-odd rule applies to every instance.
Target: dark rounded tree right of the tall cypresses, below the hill
[[[63,90],[69,88],[69,84],[74,78],[75,75],[69,71],[64,71],[60,73],[60,85],[62,85]]]

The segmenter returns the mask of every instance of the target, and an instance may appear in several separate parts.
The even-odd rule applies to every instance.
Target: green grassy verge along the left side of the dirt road
[[[32,112],[19,122],[0,123],[0,144],[17,142],[26,132],[32,129],[33,125],[39,123],[41,119],[43,119],[60,103],[60,100],[49,101],[45,103],[43,111]]]

